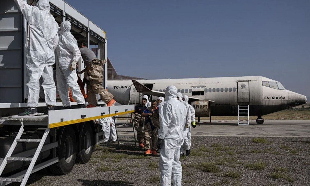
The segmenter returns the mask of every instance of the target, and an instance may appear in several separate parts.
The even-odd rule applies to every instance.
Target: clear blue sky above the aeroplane
[[[310,96],[309,0],[66,0],[107,32],[118,74],[265,76]]]

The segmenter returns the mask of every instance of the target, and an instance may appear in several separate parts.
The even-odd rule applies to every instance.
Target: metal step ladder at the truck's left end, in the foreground
[[[26,173],[24,174],[24,176],[21,176],[20,178],[4,178],[4,177],[0,177],[0,181],[1,182],[21,182],[21,186],[25,186],[27,183],[27,180],[33,170],[33,167],[35,165],[35,163],[37,162],[37,159],[39,157],[39,154],[42,150],[42,147],[44,145],[44,142],[47,138],[48,133],[50,132],[49,128],[46,128],[44,131],[44,134],[42,136],[42,139],[20,139],[21,135],[24,132],[24,123],[23,123],[23,119],[20,119],[20,130],[18,131],[9,151],[7,152],[7,155],[3,158],[3,161],[1,163],[0,166],[0,176],[5,168],[5,166],[7,165],[8,161],[31,161],[30,165],[26,171]],[[14,152],[14,149],[17,145],[18,142],[35,142],[35,143],[39,143],[38,148],[36,149],[36,152],[34,153],[33,157],[11,157],[12,153]]]

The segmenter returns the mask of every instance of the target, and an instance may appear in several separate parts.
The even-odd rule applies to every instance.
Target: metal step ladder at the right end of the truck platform
[[[126,118],[126,119],[129,118],[129,119],[131,119],[132,122],[134,121],[134,118],[132,117],[132,114],[130,117],[122,117],[122,116],[114,116],[113,117],[115,130],[116,130],[116,136],[117,136],[117,142],[118,142],[118,148],[121,148],[121,145],[135,145],[135,147],[138,148],[134,125],[132,124],[132,130],[117,130],[117,126],[116,126],[116,122],[115,122],[116,118]],[[118,136],[118,132],[133,132],[133,137],[132,136]],[[135,141],[128,141],[126,139],[135,139]]]

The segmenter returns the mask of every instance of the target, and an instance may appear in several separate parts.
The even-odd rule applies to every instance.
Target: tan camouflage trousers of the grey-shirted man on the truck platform
[[[99,94],[101,100],[108,104],[114,96],[105,90],[103,84],[103,67],[102,61],[94,59],[91,61],[90,66],[87,69],[87,102],[92,105],[97,105],[98,100],[96,94]]]

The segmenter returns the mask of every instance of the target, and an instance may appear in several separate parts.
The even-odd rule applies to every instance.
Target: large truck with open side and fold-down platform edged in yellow
[[[27,1],[27,0],[26,0]],[[69,20],[71,33],[87,41],[98,59],[107,60],[106,33],[63,0],[49,0],[56,22]],[[36,0],[27,1],[35,6]],[[51,173],[68,174],[75,163],[87,163],[95,145],[104,138],[97,119],[134,112],[134,105],[62,110],[60,100],[48,115],[18,117],[27,107],[26,43],[28,25],[13,0],[0,1],[0,185],[21,182],[44,168]],[[80,59],[78,71],[85,68]],[[55,77],[55,76],[54,76]],[[83,74],[80,75],[83,77]],[[56,81],[55,81],[56,82]],[[107,88],[107,64],[104,66]],[[85,87],[86,89],[86,87]],[[46,106],[40,87],[38,113]],[[98,102],[104,104],[104,102]]]

